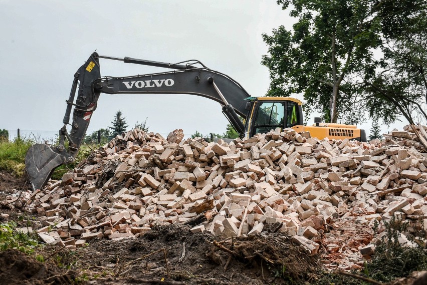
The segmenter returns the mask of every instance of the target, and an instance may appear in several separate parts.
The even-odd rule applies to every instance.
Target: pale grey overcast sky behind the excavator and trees
[[[275,0],[0,0],[0,129],[59,130],[73,75],[95,50],[171,63],[197,59],[264,96],[270,80],[260,64],[267,53],[261,35],[294,22]],[[100,66],[101,76],[167,71],[104,59]],[[88,131],[111,126],[118,110],[130,127],[148,117],[150,131],[163,135],[176,128],[223,133],[228,123],[220,104],[194,95],[101,94]],[[362,127],[368,134],[371,124]]]

